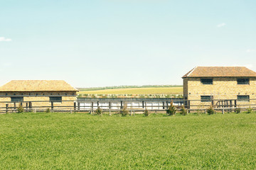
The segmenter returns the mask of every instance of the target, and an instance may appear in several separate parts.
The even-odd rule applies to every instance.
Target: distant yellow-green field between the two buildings
[[[154,87],[80,91],[79,94],[182,94],[183,87]]]

